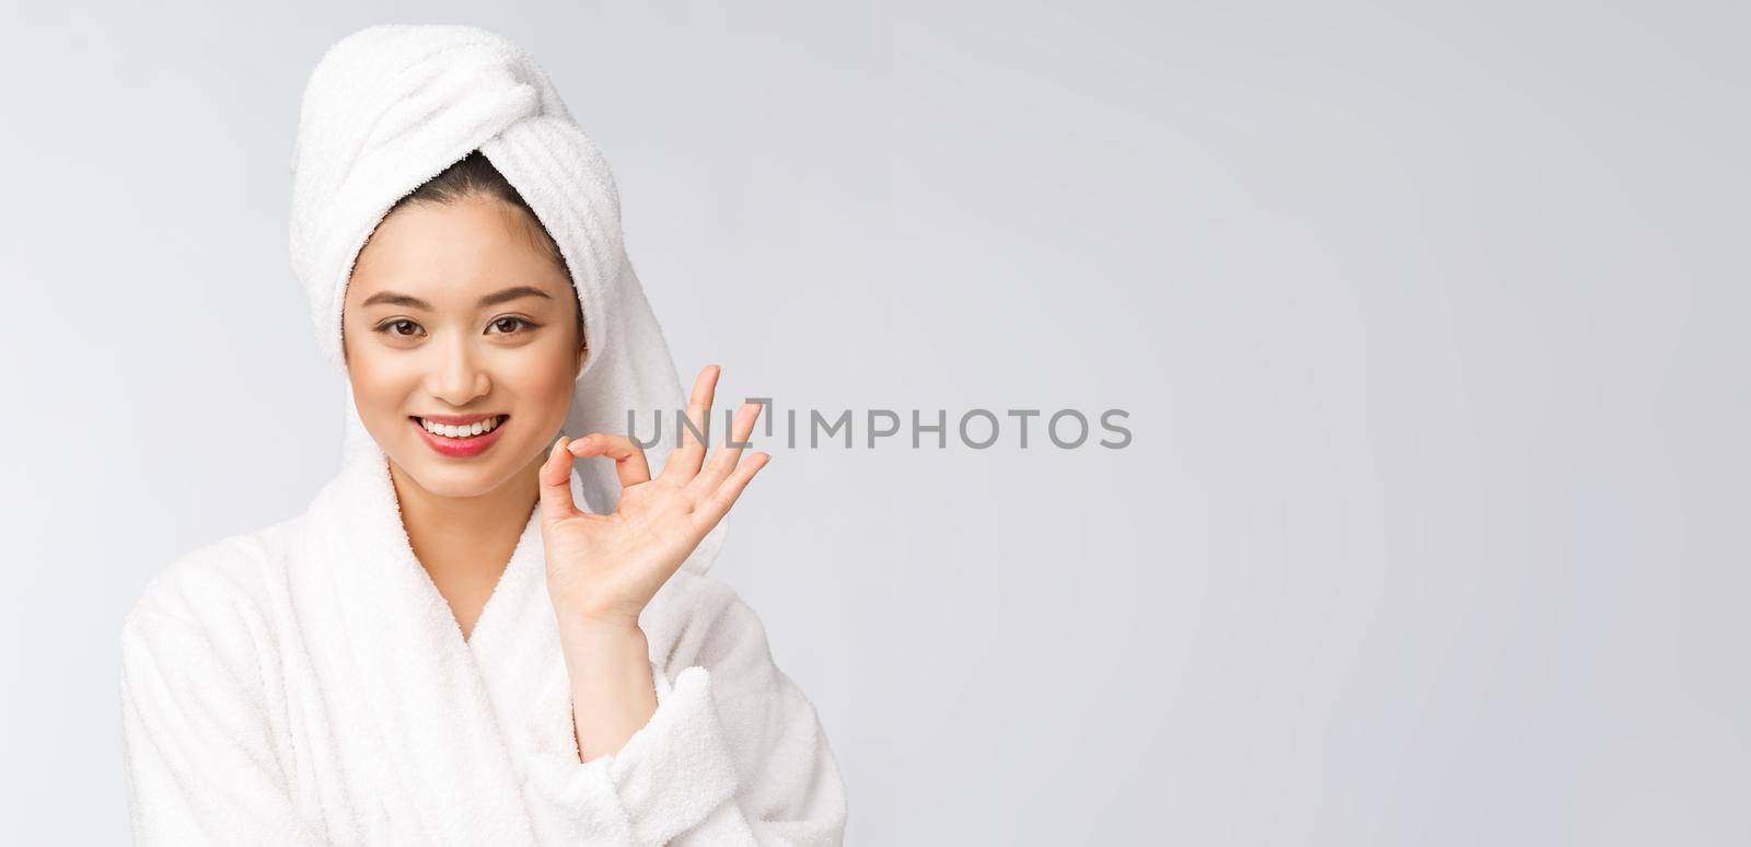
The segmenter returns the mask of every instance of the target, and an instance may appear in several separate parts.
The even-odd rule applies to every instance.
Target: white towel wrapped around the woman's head
[[[627,432],[629,411],[650,420],[644,415],[685,408],[669,345],[627,259],[608,159],[534,58],[476,26],[369,26],[329,47],[310,74],[292,150],[291,254],[322,355],[345,371],[347,280],[383,214],[473,150],[553,236],[583,308],[590,355],[566,434]],[[373,448],[350,390],[345,460]],[[646,448],[651,472],[672,446],[664,439]],[[585,462],[578,474],[580,508],[613,511],[620,497],[613,462]],[[683,567],[704,572],[728,523],[718,523]]]

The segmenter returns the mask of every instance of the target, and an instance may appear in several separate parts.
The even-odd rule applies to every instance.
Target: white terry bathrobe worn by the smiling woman
[[[362,450],[305,514],[179,558],[128,614],[135,838],[840,844],[839,768],[755,611],[688,567],[639,625],[657,712],[583,765],[539,513],[464,640]]]

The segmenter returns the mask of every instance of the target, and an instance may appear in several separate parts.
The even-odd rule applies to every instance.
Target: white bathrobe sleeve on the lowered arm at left
[[[147,586],[121,630],[123,758],[135,844],[326,844],[284,782],[256,639],[242,623],[247,612],[235,598],[189,602],[201,588],[173,581]],[[198,614],[200,606],[207,609]]]

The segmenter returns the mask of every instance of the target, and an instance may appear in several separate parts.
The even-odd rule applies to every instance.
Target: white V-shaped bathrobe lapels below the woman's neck
[[[536,614],[538,598],[546,600],[539,513],[524,528],[473,634],[480,642],[471,646],[413,555],[382,453],[348,460],[336,483],[312,506],[312,518],[326,539],[322,558],[334,579],[336,620],[355,679],[390,760],[385,772],[394,784],[382,789],[401,793],[399,802],[417,810],[427,844],[531,844],[508,740],[557,733],[552,705],[548,719],[539,718],[539,704],[552,700],[552,674],[543,670],[557,668],[564,677],[564,665],[553,660],[552,609],[545,628],[511,625],[513,616]],[[552,632],[552,651],[543,630]],[[492,662],[478,663],[476,649]],[[569,691],[559,688],[569,730]],[[499,709],[508,718],[504,728]]]

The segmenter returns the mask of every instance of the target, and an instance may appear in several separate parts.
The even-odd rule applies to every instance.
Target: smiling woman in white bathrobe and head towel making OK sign
[[[839,844],[819,718],[706,576],[760,410],[707,457],[707,368],[679,432],[623,432],[674,420],[679,380],[541,68],[478,28],[361,30],[310,77],[292,170],[341,471],[128,614],[135,840]]]

